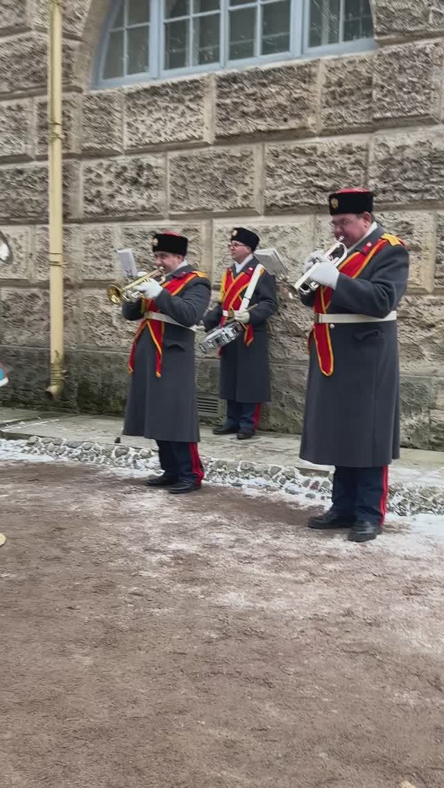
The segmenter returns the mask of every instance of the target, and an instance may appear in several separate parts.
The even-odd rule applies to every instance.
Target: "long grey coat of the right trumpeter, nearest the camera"
[[[379,226],[360,251],[384,232]],[[397,308],[408,277],[409,253],[401,244],[387,244],[356,279],[339,274],[328,312],[383,318]],[[311,305],[314,296],[302,300]],[[330,337],[330,377],[319,369],[311,342],[300,457],[320,465],[388,465],[399,457],[397,323],[338,324]]]

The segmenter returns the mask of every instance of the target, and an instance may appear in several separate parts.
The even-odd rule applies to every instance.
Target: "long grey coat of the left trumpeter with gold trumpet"
[[[176,278],[192,271],[184,266]],[[175,276],[174,274],[172,275]],[[172,276],[167,277],[167,280]],[[156,299],[159,310],[182,325],[198,323],[210,301],[211,284],[206,277],[196,277],[177,296],[166,290]],[[124,303],[127,320],[140,320],[142,300]],[[162,345],[162,374],[155,374],[155,344],[147,327],[140,334],[134,355],[133,372],[126,404],[124,435],[138,435],[154,440],[200,440],[196,403],[194,343],[196,334],[187,328],[165,323]]]

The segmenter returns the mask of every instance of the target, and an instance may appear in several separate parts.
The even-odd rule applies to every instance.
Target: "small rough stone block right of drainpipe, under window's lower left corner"
[[[82,146],[84,153],[120,153],[122,148],[122,91],[100,91],[84,95]]]

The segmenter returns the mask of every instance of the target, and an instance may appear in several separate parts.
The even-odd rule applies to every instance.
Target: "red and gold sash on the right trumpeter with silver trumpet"
[[[397,242],[401,243],[400,241]],[[356,277],[359,277],[360,273],[364,271],[364,268],[368,266],[371,258],[376,255],[376,253],[379,252],[382,247],[385,247],[387,243],[391,243],[388,236],[382,236],[376,241],[375,246],[371,247],[370,251],[353,252],[353,254],[344,260],[344,262],[341,262],[341,265],[338,266],[338,271],[345,273],[346,277],[356,279]],[[330,307],[333,292],[334,291],[332,288],[326,288],[323,287],[323,285],[319,287],[316,291],[313,311],[317,312],[318,314],[326,314]],[[330,377],[334,370],[334,356],[333,348],[331,346],[330,326],[327,323],[315,323],[315,325],[313,325],[312,333],[310,334],[309,343],[312,339],[312,336],[314,336],[315,339],[319,369],[324,375],[326,375],[326,377]]]

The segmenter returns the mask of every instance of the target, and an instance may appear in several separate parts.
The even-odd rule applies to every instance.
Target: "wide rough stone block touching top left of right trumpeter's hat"
[[[267,145],[267,210],[302,211],[308,207],[325,207],[330,191],[350,183],[364,187],[366,169],[367,143],[359,139]]]

